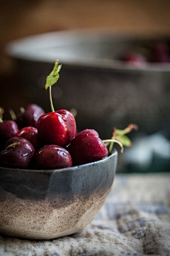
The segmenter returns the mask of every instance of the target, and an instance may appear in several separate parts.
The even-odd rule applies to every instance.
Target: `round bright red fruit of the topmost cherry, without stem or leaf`
[[[43,114],[38,119],[38,134],[44,144],[67,146],[76,134],[74,116],[67,110]]]

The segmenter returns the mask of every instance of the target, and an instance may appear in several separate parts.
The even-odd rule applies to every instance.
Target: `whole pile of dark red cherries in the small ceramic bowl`
[[[76,134],[76,129],[71,112],[45,114],[38,105],[29,105],[15,122],[0,122],[0,166],[60,169],[108,156],[98,132],[85,129]]]

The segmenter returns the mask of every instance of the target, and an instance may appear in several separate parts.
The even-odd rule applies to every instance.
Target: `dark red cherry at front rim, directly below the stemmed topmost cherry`
[[[57,145],[46,145],[35,155],[38,169],[60,169],[72,166],[69,151]]]

